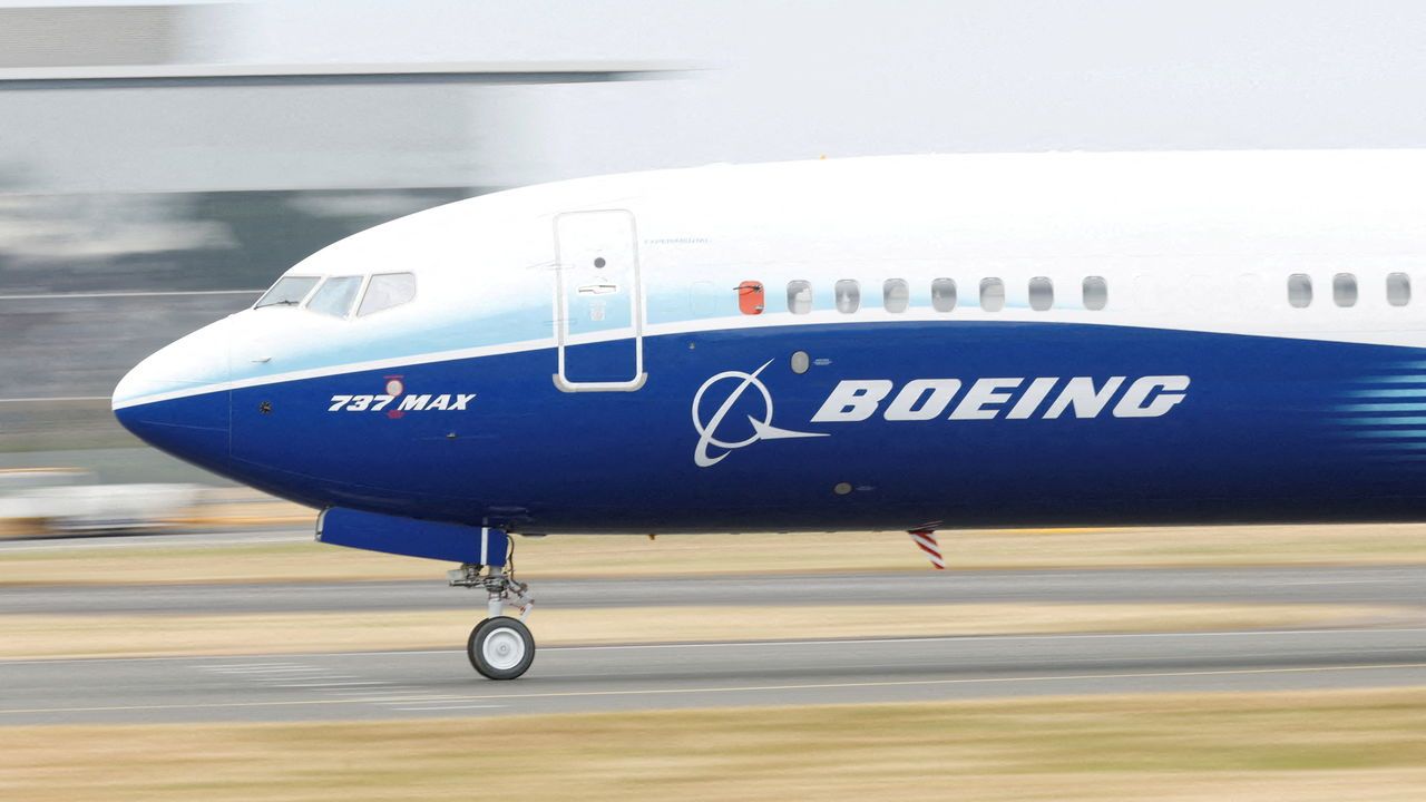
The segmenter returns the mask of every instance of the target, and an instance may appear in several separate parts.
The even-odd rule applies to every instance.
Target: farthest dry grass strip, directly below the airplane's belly
[[[947,531],[953,568],[1369,565],[1426,562],[1426,524]],[[0,582],[442,581],[448,565],[314,542],[184,545],[155,537],[13,544]],[[927,571],[904,532],[516,538],[516,565],[548,577]],[[536,585],[538,589],[538,585]]]

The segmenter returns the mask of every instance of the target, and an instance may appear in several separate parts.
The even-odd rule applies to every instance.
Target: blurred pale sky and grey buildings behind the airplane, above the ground
[[[1417,147],[1423,31],[1382,0],[4,1],[0,498],[215,482],[111,388],[385,220],[712,161]]]

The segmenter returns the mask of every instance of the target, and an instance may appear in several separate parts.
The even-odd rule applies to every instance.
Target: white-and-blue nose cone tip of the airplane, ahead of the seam
[[[114,388],[114,417],[140,440],[204,468],[228,460],[228,337],[220,321],[160,350]]]

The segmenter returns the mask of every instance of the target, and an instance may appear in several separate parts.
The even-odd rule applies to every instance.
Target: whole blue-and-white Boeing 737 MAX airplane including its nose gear
[[[302,260],[113,408],[322,542],[459,562],[513,679],[512,534],[1422,519],[1423,186],[1221,151],[498,191]]]

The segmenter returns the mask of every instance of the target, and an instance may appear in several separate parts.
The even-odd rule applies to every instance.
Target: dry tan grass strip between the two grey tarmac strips
[[[252,615],[4,615],[0,659],[451,649],[478,609]],[[1416,608],[940,604],[540,609],[542,646],[750,639],[1417,626]]]

